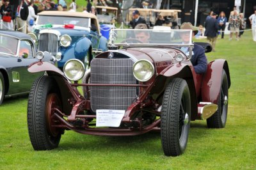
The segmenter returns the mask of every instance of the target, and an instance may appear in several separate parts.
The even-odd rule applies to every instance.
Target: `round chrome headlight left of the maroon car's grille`
[[[63,66],[63,72],[70,81],[79,81],[84,76],[84,64],[79,59],[70,59]]]

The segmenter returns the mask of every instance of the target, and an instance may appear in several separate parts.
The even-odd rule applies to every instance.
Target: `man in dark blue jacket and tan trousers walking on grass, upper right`
[[[212,13],[211,17],[205,20],[205,32],[204,35],[207,36],[207,40],[212,45],[212,51],[215,51],[215,44],[218,36],[218,20],[216,19],[216,13]]]

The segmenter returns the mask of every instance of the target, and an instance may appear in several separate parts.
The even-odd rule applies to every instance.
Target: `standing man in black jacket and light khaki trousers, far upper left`
[[[28,5],[21,1],[17,8],[16,25],[20,32],[26,33],[26,20],[28,19]]]

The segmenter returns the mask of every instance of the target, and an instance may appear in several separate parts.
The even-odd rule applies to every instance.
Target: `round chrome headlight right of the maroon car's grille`
[[[140,59],[132,66],[134,77],[138,81],[148,81],[154,75],[154,65],[147,59]]]

